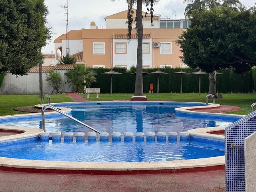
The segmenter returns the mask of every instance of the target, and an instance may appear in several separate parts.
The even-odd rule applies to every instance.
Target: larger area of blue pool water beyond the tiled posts
[[[71,115],[100,132],[184,132],[194,128],[228,126],[239,118],[188,118],[176,116],[175,108],[188,104],[173,103],[94,103],[61,105],[72,108]],[[194,104],[196,105],[196,104]],[[0,120],[0,124],[42,128],[40,117]],[[64,116],[46,116],[48,132],[92,132]]]

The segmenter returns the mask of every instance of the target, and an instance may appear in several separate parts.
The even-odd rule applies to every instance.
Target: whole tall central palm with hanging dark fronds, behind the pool
[[[115,1],[115,0],[112,0]],[[136,81],[135,81],[135,91],[134,95],[141,96],[143,95],[143,77],[142,77],[142,39],[143,39],[143,25],[142,25],[142,4],[145,4],[147,8],[147,12],[145,17],[150,14],[151,24],[153,23],[153,6],[156,4],[158,0],[126,0],[128,4],[128,13],[126,22],[128,24],[128,38],[130,40],[131,33],[132,33],[132,24],[133,24],[133,6],[136,4],[136,17],[135,17],[135,24],[136,24],[136,32],[137,32],[137,40],[138,40],[138,47],[137,47],[137,63],[136,63]],[[148,6],[150,5],[150,8]]]

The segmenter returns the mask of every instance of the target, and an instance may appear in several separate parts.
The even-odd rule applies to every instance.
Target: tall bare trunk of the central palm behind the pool
[[[138,34],[138,47],[137,47],[137,65],[136,65],[136,81],[134,95],[143,95],[143,76],[142,76],[142,38],[143,38],[143,25],[142,25],[142,0],[137,0],[137,34]]]

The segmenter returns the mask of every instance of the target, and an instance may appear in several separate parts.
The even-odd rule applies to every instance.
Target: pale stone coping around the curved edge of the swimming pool
[[[109,102],[109,101],[108,101]],[[157,102],[157,101],[152,101]],[[72,102],[73,104],[88,103],[88,102]],[[98,102],[94,102],[98,103]],[[162,103],[162,101],[161,101]],[[175,103],[175,102],[172,102]],[[179,103],[179,102],[176,102]],[[193,102],[180,102],[180,103],[193,103]],[[56,103],[56,104],[71,104],[69,103]],[[197,107],[181,107],[176,108],[180,112],[193,113],[193,114],[211,114],[214,116],[215,113],[196,112],[189,111],[186,109],[191,108],[213,108],[218,107],[219,104],[210,104],[209,106],[197,106]],[[60,108],[60,107],[58,107]],[[175,109],[175,110],[176,110]],[[176,111],[177,111],[176,110]],[[70,108],[64,108],[63,112],[70,112]],[[46,112],[46,114],[56,114],[56,112]],[[2,116],[2,118],[20,117],[20,116],[36,116],[36,114],[22,114],[12,116]],[[218,114],[220,116],[236,116],[243,117],[241,115],[233,114]],[[1,126],[4,127],[4,126]],[[0,128],[1,128],[0,127]],[[6,126],[10,129],[17,129],[17,127]],[[20,127],[24,130],[24,127]],[[38,129],[38,128],[30,128]],[[205,129],[204,131],[202,129]],[[38,129],[41,130],[41,129]],[[199,137],[208,140],[222,140],[224,136],[214,135],[207,133],[209,131],[224,130],[224,127],[214,128],[200,128],[194,129],[194,132],[189,134],[192,137]],[[198,131],[198,132],[196,132]],[[41,130],[42,132],[42,130]],[[26,132],[25,132],[26,133]],[[22,133],[23,134],[23,133]],[[39,136],[39,132],[37,136]],[[13,136],[19,136],[16,134]],[[12,138],[12,136],[6,136]],[[28,137],[20,137],[28,138]],[[178,173],[178,172],[198,172],[207,170],[220,170],[224,169],[224,156],[212,157],[212,158],[201,158],[192,160],[176,160],[176,161],[163,161],[163,162],[58,162],[58,161],[44,161],[44,160],[23,160],[15,158],[4,158],[0,157],[0,170],[7,171],[20,171],[20,172],[42,172],[42,173],[83,173],[83,174],[144,174],[144,173]]]

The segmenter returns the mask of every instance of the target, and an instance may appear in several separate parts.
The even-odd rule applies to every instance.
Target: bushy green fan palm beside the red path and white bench
[[[97,73],[90,68],[86,68],[84,64],[74,64],[74,69],[66,73],[67,81],[74,92],[84,92],[85,86],[90,86],[96,82]]]

